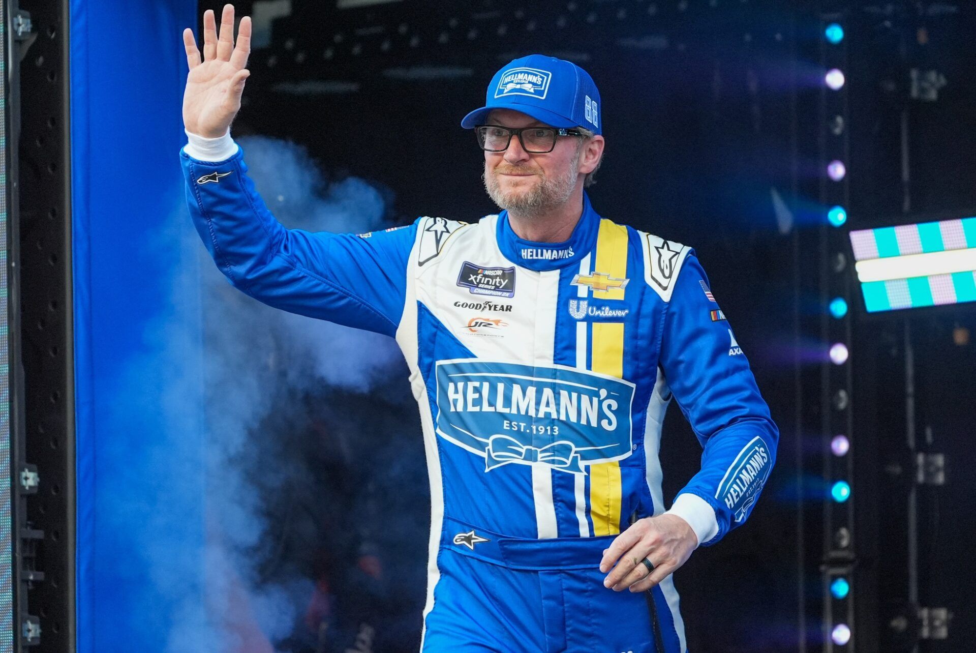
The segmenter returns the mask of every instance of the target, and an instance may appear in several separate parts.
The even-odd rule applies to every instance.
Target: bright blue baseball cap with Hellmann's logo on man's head
[[[483,125],[492,109],[526,113],[552,127],[586,127],[602,133],[600,94],[590,73],[572,61],[529,55],[509,61],[488,85],[485,105],[474,109],[461,126]]]

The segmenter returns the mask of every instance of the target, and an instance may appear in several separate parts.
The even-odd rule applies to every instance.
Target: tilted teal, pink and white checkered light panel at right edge
[[[850,232],[868,312],[976,302],[976,218]]]

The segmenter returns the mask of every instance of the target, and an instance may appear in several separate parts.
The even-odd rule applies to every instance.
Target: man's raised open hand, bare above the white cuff
[[[193,30],[183,30],[183,46],[189,74],[183,91],[183,126],[187,132],[208,139],[224,136],[241,108],[245,68],[251,54],[251,17],[241,19],[234,45],[234,6],[224,5],[218,39],[213,10],[203,14],[203,61],[196,49]]]

